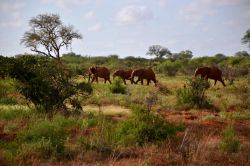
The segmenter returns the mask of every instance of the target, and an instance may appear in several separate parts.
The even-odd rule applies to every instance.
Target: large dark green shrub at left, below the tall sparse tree
[[[20,93],[38,110],[46,112],[65,112],[64,101],[78,90],[85,91],[85,87],[78,89],[71,81],[71,73],[64,64],[46,57],[26,55],[16,58],[11,75],[20,81]]]

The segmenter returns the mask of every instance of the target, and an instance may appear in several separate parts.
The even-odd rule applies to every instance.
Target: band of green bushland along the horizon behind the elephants
[[[23,55],[17,55],[16,57],[0,55],[0,75],[4,75],[11,66],[11,61],[20,56]],[[192,75],[195,69],[200,66],[217,66],[223,71],[225,77],[237,77],[247,75],[250,68],[249,54],[236,54],[235,56],[217,54],[212,57],[146,59],[133,56],[119,58],[118,55],[91,57],[68,53],[63,54],[62,61],[75,74],[84,74],[90,66],[105,66],[111,72],[117,69],[152,67],[158,74],[175,76]]]

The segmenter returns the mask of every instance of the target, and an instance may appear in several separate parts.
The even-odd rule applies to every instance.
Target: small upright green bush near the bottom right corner
[[[228,126],[224,130],[219,148],[222,152],[226,153],[237,153],[240,150],[240,141],[232,126]]]

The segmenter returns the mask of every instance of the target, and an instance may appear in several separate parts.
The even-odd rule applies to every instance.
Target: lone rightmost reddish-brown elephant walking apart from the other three
[[[223,86],[226,86],[224,81],[222,80],[222,71],[217,67],[199,67],[195,70],[194,76],[201,75],[201,78],[205,79],[213,79],[214,85],[216,85],[217,80],[222,83]]]

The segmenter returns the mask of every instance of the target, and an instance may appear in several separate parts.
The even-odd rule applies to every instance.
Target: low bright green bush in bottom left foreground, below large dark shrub
[[[77,124],[73,118],[57,116],[53,121],[42,120],[35,125],[18,133],[21,142],[19,153],[26,156],[26,151],[31,153],[39,151],[41,157],[60,157],[64,155],[64,142],[68,135],[67,127]],[[33,150],[32,150],[33,149]]]

